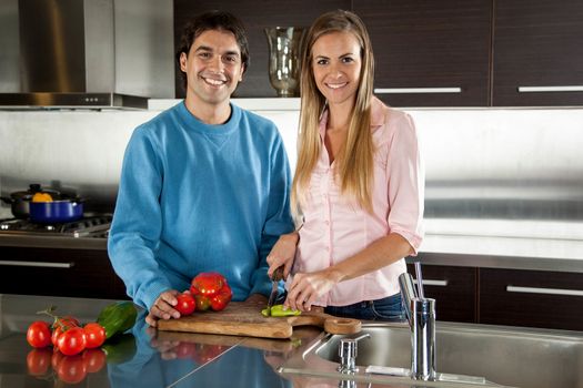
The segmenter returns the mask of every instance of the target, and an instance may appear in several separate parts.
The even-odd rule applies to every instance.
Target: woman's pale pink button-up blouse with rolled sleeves
[[[324,146],[328,112],[320,122],[322,152],[303,204],[303,226],[293,273],[332,266],[390,233],[403,236],[415,254],[423,238],[424,169],[411,116],[372,101],[374,154],[373,214],[340,195],[334,166]],[[315,305],[346,306],[380,299],[399,292],[398,277],[406,272],[404,258],[373,273],[341,282]]]

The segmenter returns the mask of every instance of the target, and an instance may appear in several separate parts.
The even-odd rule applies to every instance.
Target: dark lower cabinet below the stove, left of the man
[[[128,299],[105,251],[0,247],[0,294]]]

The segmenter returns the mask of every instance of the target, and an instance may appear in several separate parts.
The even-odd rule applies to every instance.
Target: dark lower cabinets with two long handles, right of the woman
[[[414,274],[412,264],[408,270]],[[438,320],[583,330],[583,273],[432,264],[422,270]]]

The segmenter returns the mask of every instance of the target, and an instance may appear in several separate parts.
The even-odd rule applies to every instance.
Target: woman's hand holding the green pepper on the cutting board
[[[311,274],[295,274],[284,306],[309,312],[315,299],[326,294],[340,282],[340,274],[331,268]]]

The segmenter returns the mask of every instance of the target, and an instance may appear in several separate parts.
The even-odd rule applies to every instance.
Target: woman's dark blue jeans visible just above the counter
[[[324,308],[324,313],[336,317],[364,320],[405,320],[401,293],[382,299],[359,302],[349,306],[328,306]]]

